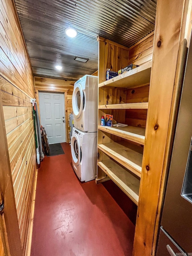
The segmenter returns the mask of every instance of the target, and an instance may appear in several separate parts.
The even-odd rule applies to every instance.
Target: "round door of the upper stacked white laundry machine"
[[[76,88],[73,91],[72,96],[72,107],[73,107],[73,114],[76,118],[81,116],[85,105],[85,96],[80,83],[77,84]]]

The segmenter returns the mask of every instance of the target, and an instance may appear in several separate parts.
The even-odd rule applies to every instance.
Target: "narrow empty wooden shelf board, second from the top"
[[[148,102],[99,105],[99,109],[148,109]]]

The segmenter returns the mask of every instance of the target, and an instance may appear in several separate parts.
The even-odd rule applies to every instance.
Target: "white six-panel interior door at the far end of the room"
[[[39,92],[39,107],[49,144],[66,142],[64,93]]]

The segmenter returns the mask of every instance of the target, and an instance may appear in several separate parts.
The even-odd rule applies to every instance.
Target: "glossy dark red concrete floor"
[[[31,256],[131,255],[137,207],[112,181],[81,183],[61,144],[38,170]]]

